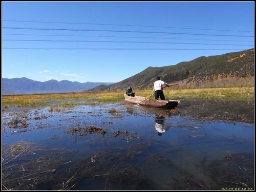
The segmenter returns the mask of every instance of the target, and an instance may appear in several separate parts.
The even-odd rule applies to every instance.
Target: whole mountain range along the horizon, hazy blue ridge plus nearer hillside
[[[152,88],[156,76],[170,83],[182,84],[213,81],[226,77],[254,77],[254,49],[215,56],[201,56],[191,61],[165,67],[148,67],[117,83],[71,82],[68,80],[34,81],[28,78],[2,78],[2,94],[68,93],[82,91],[126,90],[127,87]]]

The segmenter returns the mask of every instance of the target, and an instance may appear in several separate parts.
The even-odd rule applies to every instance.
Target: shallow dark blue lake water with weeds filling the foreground
[[[203,110],[3,110],[2,189],[253,190],[254,120]]]

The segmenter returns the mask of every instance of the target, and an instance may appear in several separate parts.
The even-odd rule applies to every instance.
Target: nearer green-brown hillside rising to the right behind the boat
[[[170,83],[182,81],[198,83],[226,77],[254,76],[254,49],[216,56],[201,56],[174,66],[148,67],[144,71],[110,86],[96,87],[90,91],[125,90],[127,87],[152,88],[156,76]]]

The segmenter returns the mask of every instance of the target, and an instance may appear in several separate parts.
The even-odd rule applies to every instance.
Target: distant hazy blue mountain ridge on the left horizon
[[[69,93],[82,92],[97,86],[109,86],[113,82],[72,82],[68,80],[49,80],[45,82],[23,78],[2,78],[2,95],[33,94],[33,93]]]

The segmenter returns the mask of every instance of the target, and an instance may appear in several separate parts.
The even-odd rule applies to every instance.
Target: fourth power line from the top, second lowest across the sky
[[[218,46],[253,46],[238,44],[200,44],[193,42],[153,42],[153,41],[108,41],[108,40],[35,40],[35,39],[2,39],[4,41],[46,41],[46,42],[115,42],[115,43],[136,43],[136,44],[186,44],[186,45],[218,45]]]

